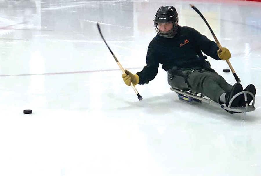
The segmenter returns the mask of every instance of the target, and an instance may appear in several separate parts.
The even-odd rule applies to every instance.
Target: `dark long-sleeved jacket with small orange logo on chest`
[[[153,80],[160,64],[165,71],[174,66],[180,68],[204,67],[207,57],[203,56],[202,52],[215,60],[220,60],[217,51],[218,45],[214,41],[191,27],[179,27],[173,38],[164,38],[157,34],[148,46],[147,65],[142,71],[137,72],[139,84]]]

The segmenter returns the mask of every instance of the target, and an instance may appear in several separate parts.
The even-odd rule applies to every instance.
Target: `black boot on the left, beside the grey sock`
[[[226,93],[226,95],[225,95],[225,98],[226,98],[226,106],[227,106],[227,107],[228,107],[229,102],[230,102],[230,100],[232,99],[232,97],[233,97],[235,94],[237,94],[237,93],[239,93],[239,92],[241,92],[241,91],[243,91],[242,85],[241,85],[240,83],[238,83],[238,82],[235,83],[234,86],[232,87],[231,91],[230,91],[229,93]],[[233,100],[233,102],[231,103],[231,107],[239,107],[239,102],[240,102],[240,100],[242,99],[242,97],[244,98],[244,95],[243,95],[243,94],[240,95],[240,96],[238,96],[237,98],[235,98],[235,99]]]

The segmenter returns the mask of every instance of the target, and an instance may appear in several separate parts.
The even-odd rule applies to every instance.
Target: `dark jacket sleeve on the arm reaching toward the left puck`
[[[153,48],[152,43],[148,46],[146,63],[147,65],[143,70],[136,73],[139,76],[139,84],[148,84],[148,82],[153,80],[158,73],[160,62],[157,51]]]

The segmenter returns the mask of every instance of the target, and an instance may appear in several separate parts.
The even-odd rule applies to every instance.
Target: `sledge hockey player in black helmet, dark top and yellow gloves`
[[[178,24],[178,14],[173,6],[161,6],[154,17],[157,35],[148,46],[146,66],[142,71],[132,74],[126,70],[122,78],[126,85],[145,84],[153,80],[158,73],[159,64],[168,72],[168,84],[177,89],[202,93],[220,105],[229,105],[231,98],[241,92],[249,91],[255,96],[253,84],[244,90],[240,83],[230,85],[206,61],[206,54],[215,60],[228,60],[229,50],[200,34],[194,28]],[[253,100],[247,94],[247,103]],[[244,95],[236,97],[231,107],[245,105]],[[229,113],[235,113],[228,111]]]

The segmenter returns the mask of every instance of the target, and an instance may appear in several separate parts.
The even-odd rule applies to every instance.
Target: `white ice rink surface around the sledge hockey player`
[[[136,73],[161,5],[214,40],[191,3],[231,51],[243,87],[257,88],[245,121],[179,100],[161,65],[154,80],[136,86],[139,102],[96,27]],[[261,2],[235,0],[1,0],[0,175],[260,176],[260,9]],[[223,73],[226,62],[208,60],[236,82]]]

